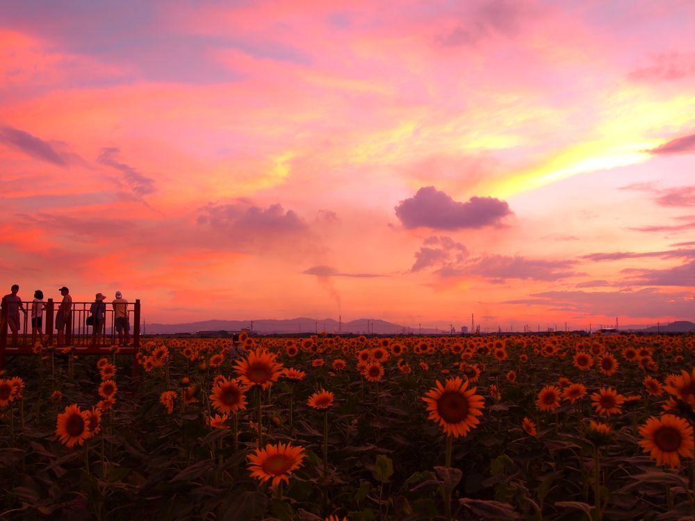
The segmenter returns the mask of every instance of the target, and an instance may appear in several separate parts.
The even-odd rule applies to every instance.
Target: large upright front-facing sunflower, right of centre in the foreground
[[[484,399],[475,394],[475,387],[466,388],[468,381],[460,377],[447,379],[445,385],[437,380],[436,387],[425,392],[423,397],[430,411],[428,419],[439,423],[447,436],[465,437],[480,423],[477,416],[482,415]]]

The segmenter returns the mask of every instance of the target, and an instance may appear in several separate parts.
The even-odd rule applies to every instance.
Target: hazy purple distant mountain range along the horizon
[[[354,333],[358,335],[400,335],[400,334],[423,334],[441,335],[449,333],[448,328],[413,328],[393,324],[385,320],[371,320],[361,318],[350,322],[338,322],[331,318],[317,320],[309,317],[292,318],[286,320],[205,320],[203,322],[188,322],[186,324],[144,324],[142,331],[148,335],[172,335],[176,333],[195,334],[199,331],[241,331],[251,329],[254,333],[261,335],[288,334],[288,333]],[[695,333],[695,323],[686,320],[652,326],[639,329],[639,326],[628,326],[621,328],[621,331],[643,331],[646,333]],[[461,329],[455,330],[461,333]]]

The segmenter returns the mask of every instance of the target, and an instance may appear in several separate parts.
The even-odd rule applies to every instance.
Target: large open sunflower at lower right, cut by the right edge
[[[639,440],[644,452],[649,453],[657,465],[680,467],[680,456],[693,457],[693,428],[688,422],[672,414],[661,418],[652,416],[639,427],[644,440]]]

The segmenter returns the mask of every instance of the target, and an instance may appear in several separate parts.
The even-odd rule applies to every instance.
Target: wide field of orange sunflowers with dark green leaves
[[[11,360],[0,519],[695,515],[694,336],[241,342]]]

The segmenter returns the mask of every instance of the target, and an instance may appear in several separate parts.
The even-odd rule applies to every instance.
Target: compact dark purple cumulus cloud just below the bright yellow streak
[[[418,226],[441,230],[482,228],[499,224],[511,213],[509,205],[500,199],[471,197],[462,203],[434,186],[420,188],[414,197],[400,201],[395,207],[395,215],[408,229]]]

